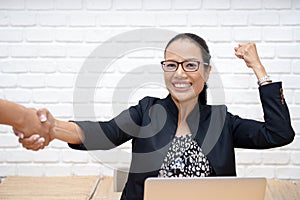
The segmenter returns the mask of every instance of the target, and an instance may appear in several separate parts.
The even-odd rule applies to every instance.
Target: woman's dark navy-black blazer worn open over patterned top
[[[197,105],[187,123],[216,176],[235,176],[234,148],[266,149],[286,145],[295,133],[281,82],[259,87],[264,121],[242,119],[226,106]],[[178,110],[170,95],[145,97],[108,122],[78,121],[85,133],[79,150],[105,150],[132,140],[132,161],[122,200],[143,199],[144,181],[156,177],[175,136]]]

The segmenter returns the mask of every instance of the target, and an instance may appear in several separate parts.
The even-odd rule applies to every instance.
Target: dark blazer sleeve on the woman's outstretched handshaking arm
[[[73,121],[84,132],[82,144],[68,144],[78,150],[107,150],[123,144],[134,138],[142,121],[142,107],[147,99],[142,99],[138,105],[121,112],[114,119],[106,122]]]

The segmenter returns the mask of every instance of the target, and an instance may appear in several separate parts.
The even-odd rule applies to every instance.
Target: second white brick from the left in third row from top
[[[24,30],[24,39],[28,42],[52,42],[54,40],[54,31],[49,28],[26,28]]]

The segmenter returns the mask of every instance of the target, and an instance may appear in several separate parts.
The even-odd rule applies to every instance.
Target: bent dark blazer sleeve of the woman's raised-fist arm
[[[291,143],[295,132],[283,97],[282,83],[261,86],[259,93],[264,122],[242,119],[230,114],[234,146],[264,149]]]

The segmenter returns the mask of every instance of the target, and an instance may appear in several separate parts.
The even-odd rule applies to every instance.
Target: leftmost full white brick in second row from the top
[[[35,26],[35,14],[31,12],[10,12],[10,24],[12,26]]]

